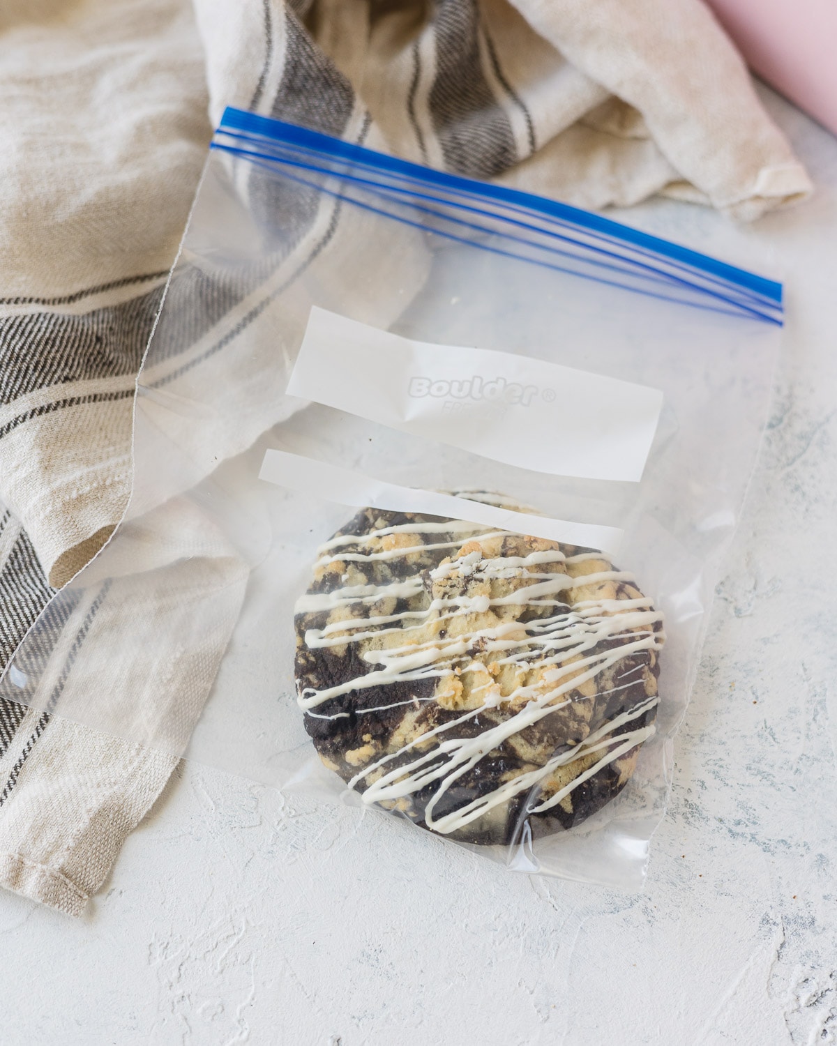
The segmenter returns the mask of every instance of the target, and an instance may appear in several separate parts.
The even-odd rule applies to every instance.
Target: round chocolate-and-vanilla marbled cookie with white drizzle
[[[324,765],[463,842],[580,824],[654,731],[661,615],[591,549],[364,508],[319,549],[295,627]]]

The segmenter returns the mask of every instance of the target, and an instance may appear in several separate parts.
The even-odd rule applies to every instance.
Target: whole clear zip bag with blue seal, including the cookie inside
[[[228,110],[126,519],[0,693],[637,885],[781,324],[770,280]]]

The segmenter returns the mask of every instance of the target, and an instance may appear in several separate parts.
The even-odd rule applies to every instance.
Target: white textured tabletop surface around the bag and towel
[[[0,896],[3,1046],[837,1043],[837,140],[771,105],[813,202],[627,215],[777,270],[792,315],[644,891],[187,767],[86,918]]]

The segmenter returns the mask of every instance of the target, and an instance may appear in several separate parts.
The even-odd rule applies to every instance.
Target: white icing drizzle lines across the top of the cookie
[[[372,542],[380,544],[381,538],[400,533],[454,536],[458,533],[467,540],[477,542],[505,536],[503,531],[480,528],[473,523],[460,521],[413,522],[360,536],[344,535],[333,538],[318,550],[319,559],[315,566],[324,570],[338,562],[345,564],[392,560],[432,550],[456,549],[463,543],[462,539],[459,539],[383,550],[376,548],[368,551],[341,551],[347,545],[362,549]],[[389,752],[364,766],[348,781],[349,788],[356,788],[367,781],[362,798],[365,803],[374,803],[398,801],[430,783],[435,783],[435,791],[424,811],[425,822],[432,831],[447,835],[465,827],[521,793],[527,793],[529,797],[526,813],[547,811],[560,803],[583,781],[647,741],[654,733],[654,725],[630,727],[630,724],[640,720],[646,712],[657,705],[659,699],[656,696],[648,697],[624,709],[578,744],[567,744],[564,751],[557,752],[544,766],[522,772],[511,780],[500,783],[493,792],[479,796],[438,818],[434,816],[438,801],[456,780],[506,738],[560,708],[578,704],[580,700],[578,697],[573,702],[566,696],[573,690],[578,691],[586,682],[595,679],[624,658],[642,651],[658,651],[662,645],[664,635],[659,628],[661,614],[654,609],[651,599],[644,596],[627,599],[586,599],[576,601],[571,607],[561,598],[563,593],[600,583],[632,583],[632,574],[611,569],[573,577],[563,572],[539,572],[537,569],[549,564],[580,564],[602,559],[598,552],[583,552],[567,558],[558,548],[534,551],[528,555],[500,555],[488,559],[482,558],[481,551],[470,551],[432,569],[431,579],[444,581],[454,573],[459,577],[469,577],[479,571],[487,578],[524,576],[526,584],[496,598],[465,594],[436,596],[430,600],[426,609],[399,613],[376,614],[372,608],[382,600],[409,599],[425,590],[422,570],[418,567],[413,576],[404,581],[385,585],[344,585],[331,592],[303,595],[297,602],[297,614],[331,612],[348,607],[354,611],[362,607],[369,607],[371,610],[368,616],[352,616],[330,621],[321,629],[309,629],[304,634],[304,643],[310,650],[345,646],[394,633],[399,633],[405,640],[402,645],[367,650],[362,655],[363,659],[367,664],[380,666],[375,670],[323,689],[300,688],[298,696],[300,707],[317,719],[345,718],[346,712],[323,715],[314,711],[329,700],[345,693],[394,683],[461,676],[467,672],[484,673],[485,665],[482,662],[474,662],[469,656],[468,652],[473,651],[475,644],[478,644],[480,653],[491,655],[490,660],[499,666],[515,665],[524,670],[529,667],[546,668],[546,672],[540,673],[540,682],[537,685],[518,685],[511,693],[503,697],[500,697],[499,687],[490,684],[472,688],[472,695],[480,690],[487,691],[479,707],[469,708],[456,718],[429,729],[398,751]],[[345,576],[344,574],[343,577]],[[484,614],[492,607],[510,605],[548,608],[548,613],[527,622],[501,621],[496,627],[470,631],[465,635],[437,634],[432,641],[410,642],[411,633],[425,629],[431,619],[445,622],[460,615]],[[619,685],[614,686],[613,691],[635,686],[637,679],[629,677],[644,667],[643,664],[636,664],[615,676],[614,679]],[[600,692],[594,699],[582,700],[597,700],[606,696]],[[432,697],[424,699],[414,697],[395,704],[358,709],[357,714],[399,705],[414,704],[420,707],[422,701],[432,700]],[[481,733],[467,737],[451,736],[451,732],[455,732],[457,726],[475,719],[480,712],[500,705],[507,705],[511,709],[513,703],[517,710]],[[614,733],[624,727],[628,727],[625,732]],[[426,749],[427,743],[431,741],[436,742],[435,747],[430,751],[418,751],[420,747]],[[587,756],[594,758],[582,773],[548,797],[541,798],[543,781],[559,768]],[[374,779],[369,780],[370,777]]]

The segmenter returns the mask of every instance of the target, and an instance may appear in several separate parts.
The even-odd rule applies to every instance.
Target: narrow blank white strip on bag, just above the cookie
[[[452,494],[385,483],[350,469],[342,469],[299,454],[289,454],[287,451],[267,451],[258,478],[356,508],[368,506],[391,513],[449,517],[480,523],[497,530],[512,530],[514,533],[545,538],[547,541],[596,548],[610,555],[618,552],[624,532],[618,527],[553,520],[547,516],[531,516],[497,505],[487,505],[481,501],[471,501]]]

